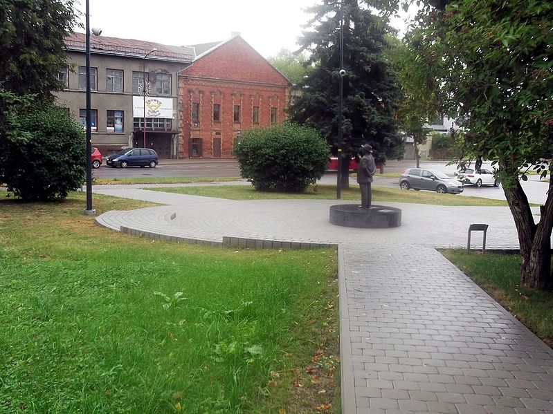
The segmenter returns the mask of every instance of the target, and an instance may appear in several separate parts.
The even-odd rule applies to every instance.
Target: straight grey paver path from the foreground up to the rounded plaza
[[[552,350],[435,249],[340,254],[346,413],[553,413]]]

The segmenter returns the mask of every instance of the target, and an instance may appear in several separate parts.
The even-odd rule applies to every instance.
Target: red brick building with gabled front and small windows
[[[179,72],[179,158],[232,158],[245,129],[283,122],[291,84],[239,35]]]

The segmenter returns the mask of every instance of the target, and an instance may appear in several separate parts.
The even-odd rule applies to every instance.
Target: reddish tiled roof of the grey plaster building
[[[87,46],[86,36],[84,33],[73,32],[66,36],[65,46],[68,50],[84,53]],[[149,59],[190,63],[196,56],[194,48],[190,46],[170,46],[152,41],[118,37],[90,37],[91,53],[143,58],[153,48],[157,50],[149,55]]]

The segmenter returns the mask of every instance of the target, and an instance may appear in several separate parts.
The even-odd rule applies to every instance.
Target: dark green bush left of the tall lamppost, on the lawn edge
[[[84,180],[84,131],[56,106],[17,114],[18,138],[0,143],[0,182],[23,200],[60,200]]]

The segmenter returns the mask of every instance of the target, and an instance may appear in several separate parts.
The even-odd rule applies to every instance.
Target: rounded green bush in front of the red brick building
[[[244,131],[234,153],[242,177],[260,191],[304,191],[329,160],[329,146],[314,129],[290,123]]]

